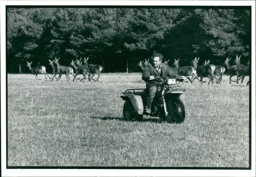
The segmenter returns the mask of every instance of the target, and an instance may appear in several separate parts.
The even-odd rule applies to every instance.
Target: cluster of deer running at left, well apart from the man
[[[100,73],[101,73],[103,67],[100,65],[88,64],[87,60],[89,60],[89,57],[87,57],[87,58],[84,57],[84,65],[82,65],[82,58],[80,60],[76,59],[76,62],[74,62],[72,60],[72,62],[70,64],[74,67],[75,72],[72,67],[60,65],[59,60],[60,60],[60,58],[59,59],[55,58],[54,60],[49,60],[50,65],[52,66],[52,72],[54,74],[52,78],[49,77],[44,66],[31,67],[32,61],[30,63],[27,61],[27,66],[28,66],[29,70],[31,71],[31,73],[35,75],[36,80],[37,79],[41,80],[41,79],[37,78],[37,74],[44,74],[45,79],[47,79],[47,77],[46,77],[46,75],[47,75],[49,77],[49,79],[52,79],[52,81],[53,81],[54,77],[56,76],[56,74],[59,74],[58,78],[55,77],[57,81],[60,80],[62,74],[66,75],[68,81],[70,79],[69,74],[74,76],[73,81],[76,79],[76,76],[78,74],[83,74],[83,76],[84,76],[83,79],[86,79],[86,74],[87,74],[89,81],[91,81],[91,80],[94,80],[93,76],[95,74],[98,74],[98,78],[95,79],[95,81],[99,81]],[[54,63],[57,66],[54,65]],[[82,81],[83,79],[81,79],[80,81]]]

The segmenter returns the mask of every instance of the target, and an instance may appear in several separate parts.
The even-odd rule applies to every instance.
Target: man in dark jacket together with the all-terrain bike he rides
[[[182,123],[185,119],[185,108],[180,95],[185,91],[177,84],[183,81],[180,75],[172,72],[170,67],[161,63],[163,56],[154,53],[152,63],[143,70],[142,79],[146,89],[128,89],[121,98],[124,103],[125,120],[141,120],[143,115],[160,117],[168,123]]]

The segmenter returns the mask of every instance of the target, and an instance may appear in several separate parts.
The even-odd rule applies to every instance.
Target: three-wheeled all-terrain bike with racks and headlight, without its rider
[[[168,123],[183,123],[185,120],[185,107],[180,100],[184,93],[177,81],[184,78],[156,77],[163,83],[157,88],[156,96],[151,105],[151,117],[159,117]],[[141,121],[147,110],[147,97],[149,93],[145,88],[127,89],[120,96],[125,100],[123,116],[125,121]]]

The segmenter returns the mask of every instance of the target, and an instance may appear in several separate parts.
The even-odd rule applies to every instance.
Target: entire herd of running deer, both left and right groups
[[[216,82],[217,84],[220,83],[220,81],[222,80],[222,74],[225,72],[225,67],[223,66],[214,66],[212,64],[209,64],[210,60],[205,60],[204,65],[198,66],[198,61],[199,61],[200,57],[196,57],[194,60],[192,60],[190,63],[192,66],[185,66],[185,67],[179,67],[179,60],[174,59],[174,65],[175,67],[171,67],[169,66],[168,62],[169,60],[165,60],[164,63],[170,67],[170,69],[182,76],[185,76],[188,78],[188,80],[192,83],[195,79],[197,79],[199,81],[200,77],[200,83],[203,84],[203,78],[204,77],[208,77],[210,80],[208,82],[208,84],[210,84],[210,82]],[[227,58],[224,63],[228,68],[228,72],[230,74],[229,77],[229,83],[232,82],[236,82],[238,84],[238,81],[240,79],[242,79],[241,84],[244,81],[244,77],[245,76],[249,76],[249,66],[244,66],[240,64],[240,57],[238,57],[238,55],[236,55],[236,65],[230,66],[229,61],[231,60],[231,58]],[[59,58],[60,59],[60,58]],[[67,77],[67,80],[70,80],[69,74],[74,76],[73,81],[76,79],[76,76],[78,74],[83,74],[83,79],[86,79],[86,75],[88,75],[88,79],[89,81],[94,80],[93,76],[94,74],[98,74],[98,78],[95,79],[95,81],[99,81],[100,78],[100,73],[103,69],[102,66],[100,65],[92,65],[92,64],[88,64],[87,60],[89,59],[89,57],[85,58],[84,57],[84,65],[82,65],[82,59],[77,60],[76,62],[74,62],[72,60],[72,62],[70,63],[74,69],[75,72],[73,70],[72,67],[67,67],[67,66],[62,66],[59,63],[59,59],[55,58],[54,60],[49,60],[50,65],[52,66],[52,72],[54,74],[54,76],[52,78],[50,78],[50,76],[48,75],[48,73],[46,72],[46,69],[44,66],[38,66],[38,67],[31,67],[31,63],[32,62],[28,62],[27,61],[27,66],[29,68],[29,70],[31,71],[32,74],[35,75],[36,80],[39,79],[37,78],[37,74],[44,74],[45,78],[46,75],[49,77],[49,79],[54,79],[54,77],[56,76],[56,74],[59,74],[59,77],[57,79],[60,80],[61,75],[65,74]],[[141,67],[141,69],[143,70],[144,67],[148,64],[149,59],[145,60],[145,61],[140,61],[139,66]],[[57,65],[55,66],[54,63]],[[249,64],[249,62],[247,63]],[[233,76],[236,76],[236,81],[233,81],[231,78]],[[191,79],[188,76],[192,76]],[[216,81],[214,81],[213,79],[215,78]],[[46,78],[47,79],[47,78]],[[80,81],[82,81],[83,79],[81,79]],[[39,79],[41,80],[41,79]],[[249,81],[247,82],[247,85],[249,84]]]

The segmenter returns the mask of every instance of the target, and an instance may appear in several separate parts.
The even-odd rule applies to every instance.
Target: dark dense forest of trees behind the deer
[[[126,72],[127,63],[151,58],[180,58],[180,66],[200,57],[223,65],[227,57],[251,59],[251,7],[177,8],[13,8],[7,7],[6,71],[33,61],[51,71],[88,57],[105,72]],[[234,60],[233,60],[234,61]],[[105,64],[104,64],[105,62]],[[235,63],[231,63],[233,65]],[[135,67],[135,65],[134,65]],[[139,66],[136,65],[138,68]],[[24,67],[23,72],[29,72]],[[138,70],[129,70],[129,72]],[[51,72],[50,72],[51,73]]]

